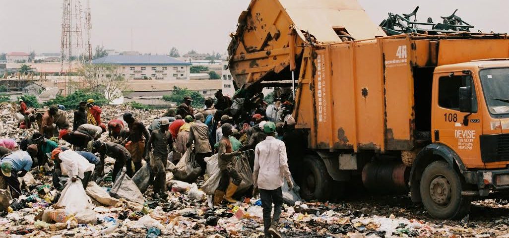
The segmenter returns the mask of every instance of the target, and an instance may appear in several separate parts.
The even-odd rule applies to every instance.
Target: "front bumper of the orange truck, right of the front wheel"
[[[488,196],[490,190],[509,189],[509,169],[464,171],[467,184],[477,185],[480,196]]]

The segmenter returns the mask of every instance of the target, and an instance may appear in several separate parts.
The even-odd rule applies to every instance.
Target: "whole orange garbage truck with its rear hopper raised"
[[[506,34],[387,36],[356,1],[252,0],[231,37],[236,88],[294,90],[304,199],[358,180],[453,219],[508,194]]]

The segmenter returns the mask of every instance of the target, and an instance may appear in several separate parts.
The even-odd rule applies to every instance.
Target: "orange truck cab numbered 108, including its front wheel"
[[[427,156],[436,161],[427,162],[417,182],[420,198],[433,216],[463,216],[472,199],[493,197],[509,188],[508,87],[506,59],[435,69],[429,146],[442,146],[440,150],[448,153],[438,156],[436,150]],[[426,154],[426,148],[421,153]]]

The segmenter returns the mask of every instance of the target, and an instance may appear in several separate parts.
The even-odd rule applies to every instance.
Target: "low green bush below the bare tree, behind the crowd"
[[[103,93],[86,93],[78,90],[66,97],[57,95],[55,99],[45,102],[44,105],[50,106],[53,104],[61,104],[66,108],[78,108],[79,102],[87,101],[89,99],[94,99],[95,104],[98,106],[102,106],[107,102]]]

